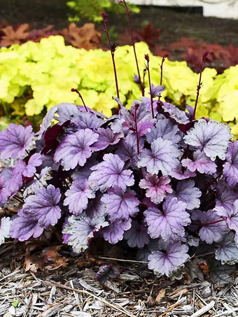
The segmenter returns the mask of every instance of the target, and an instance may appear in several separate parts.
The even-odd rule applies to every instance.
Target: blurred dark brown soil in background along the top
[[[178,41],[181,36],[221,45],[238,46],[238,20],[203,17],[193,10],[177,12],[169,8],[141,6],[141,13],[132,15],[132,28],[137,29],[146,22],[153,22],[161,29],[158,44],[168,45]],[[183,10],[184,11],[184,10]],[[33,28],[41,29],[54,24],[55,29],[67,27],[69,8],[66,0],[0,0],[0,21],[10,24],[30,23]],[[83,20],[79,24],[83,24]],[[127,21],[124,16],[111,14],[109,22],[120,34],[125,31]],[[98,25],[102,29],[102,24]]]

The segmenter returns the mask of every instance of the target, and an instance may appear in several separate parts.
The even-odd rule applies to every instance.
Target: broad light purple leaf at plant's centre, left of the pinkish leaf
[[[127,186],[134,185],[132,171],[123,170],[124,165],[125,163],[118,155],[105,154],[104,162],[91,167],[92,174],[88,178],[90,188],[104,192],[113,186],[126,190]]]

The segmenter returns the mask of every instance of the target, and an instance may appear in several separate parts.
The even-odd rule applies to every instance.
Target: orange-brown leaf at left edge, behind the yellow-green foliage
[[[8,47],[13,44],[22,43],[22,41],[28,36],[27,29],[29,29],[29,24],[27,23],[20,24],[16,30],[10,25],[8,27],[4,27],[2,31],[5,35],[1,38],[1,46]]]

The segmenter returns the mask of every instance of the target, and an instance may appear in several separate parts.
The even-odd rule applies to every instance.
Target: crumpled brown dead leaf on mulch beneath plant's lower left
[[[59,254],[61,246],[50,246],[43,249],[43,260],[45,263],[50,263],[48,269],[57,269],[59,267],[65,267],[68,259],[62,257]]]

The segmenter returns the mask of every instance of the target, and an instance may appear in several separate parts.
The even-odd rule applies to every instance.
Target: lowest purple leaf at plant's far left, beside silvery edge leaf
[[[43,227],[38,221],[22,214],[18,211],[18,217],[15,218],[10,225],[10,237],[19,241],[26,241],[31,236],[38,238],[43,233]]]

